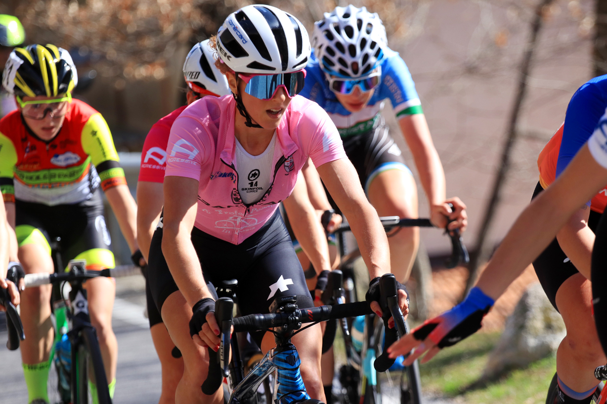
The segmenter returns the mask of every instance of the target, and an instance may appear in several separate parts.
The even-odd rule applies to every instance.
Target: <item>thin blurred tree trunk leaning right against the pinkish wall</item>
[[[512,110],[510,111],[510,119],[508,124],[509,128],[506,135],[504,148],[501,153],[500,165],[497,167],[497,173],[495,174],[495,179],[493,180],[493,188],[491,191],[489,204],[487,204],[483,222],[481,222],[481,228],[476,239],[476,247],[470,259],[470,276],[468,277],[466,283],[464,295],[460,300],[463,300],[463,298],[466,297],[470,289],[472,289],[472,286],[474,286],[476,283],[476,278],[478,277],[481,265],[487,262],[491,251],[493,250],[493,245],[489,243],[489,238],[487,236],[489,234],[493,218],[495,217],[495,213],[497,213],[497,207],[501,200],[501,190],[506,182],[507,174],[510,169],[510,153],[512,152],[512,147],[517,141],[518,118],[520,116],[521,107],[523,106],[523,101],[527,93],[527,80],[529,79],[531,73],[531,60],[533,58],[537,38],[542,27],[543,15],[548,6],[551,5],[552,1],[554,0],[541,0],[535,8],[534,16],[531,21],[531,35],[529,36],[529,42],[527,42],[527,46],[524,50],[523,60],[521,61],[521,67],[519,69],[518,90],[514,104],[512,105]],[[606,0],[597,1],[605,2],[607,4]]]

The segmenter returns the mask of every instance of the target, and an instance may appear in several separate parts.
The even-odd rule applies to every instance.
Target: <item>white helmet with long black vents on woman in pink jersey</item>
[[[271,5],[254,4],[230,14],[217,32],[219,57],[234,71],[292,73],[310,58],[310,39],[297,18]]]

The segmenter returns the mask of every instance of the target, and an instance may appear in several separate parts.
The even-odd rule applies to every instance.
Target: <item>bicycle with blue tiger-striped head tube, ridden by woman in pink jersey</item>
[[[381,279],[381,301],[385,313],[392,313],[399,333],[404,333],[404,318],[398,307],[396,279],[393,274],[385,274]],[[220,346],[217,353],[209,348],[209,373],[202,385],[205,394],[213,394],[221,386],[224,377],[229,378],[231,396],[228,404],[249,402],[257,388],[270,374],[276,372],[273,400],[276,404],[317,404],[319,400],[310,399],[299,373],[300,359],[297,349],[291,343],[291,337],[308,326],[331,319],[364,316],[371,310],[367,302],[325,305],[300,310],[295,296],[282,296],[274,300],[270,314],[249,314],[233,318],[234,302],[221,297],[215,302],[215,319],[220,326]],[[386,322],[387,324],[387,322]],[[234,334],[231,327],[234,326]],[[309,325],[311,326],[311,325]],[[387,326],[387,325],[386,325]],[[298,331],[299,330],[299,331]],[[238,358],[237,333],[271,331],[274,333],[276,348],[271,349],[263,359],[246,375],[242,376],[242,362]],[[232,350],[232,361],[229,360]],[[386,360],[387,354],[378,360]]]

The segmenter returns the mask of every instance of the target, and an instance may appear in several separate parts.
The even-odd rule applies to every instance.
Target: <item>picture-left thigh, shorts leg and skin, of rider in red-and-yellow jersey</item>
[[[49,234],[44,224],[44,207],[28,202],[15,202],[15,234],[19,260],[25,273],[52,273]]]

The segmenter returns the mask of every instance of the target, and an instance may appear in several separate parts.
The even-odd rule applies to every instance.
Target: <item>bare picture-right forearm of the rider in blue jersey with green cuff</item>
[[[401,118],[399,124],[409,145],[430,206],[443,204],[446,199],[446,180],[443,164],[432,142],[424,114]]]

